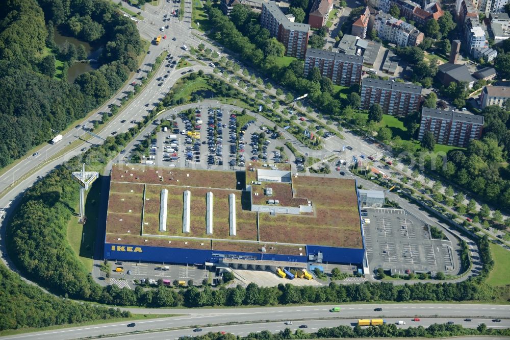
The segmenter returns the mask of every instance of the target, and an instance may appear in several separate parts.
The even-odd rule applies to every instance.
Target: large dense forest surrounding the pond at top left
[[[55,45],[55,27],[103,46],[101,66],[72,84],[55,78],[55,56],[78,57]],[[24,156],[104,103],[138,67],[135,23],[106,0],[13,0],[0,13],[0,168]]]

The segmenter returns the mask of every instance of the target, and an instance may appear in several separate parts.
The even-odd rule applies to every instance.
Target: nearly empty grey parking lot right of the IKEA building
[[[402,209],[364,208],[363,225],[370,269],[391,274],[457,274],[449,240],[432,239],[427,225]]]

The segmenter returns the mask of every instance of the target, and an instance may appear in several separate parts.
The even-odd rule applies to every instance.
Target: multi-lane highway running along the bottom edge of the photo
[[[510,309],[504,305],[471,305],[471,304],[366,304],[366,305],[341,305],[341,311],[331,313],[331,305],[324,306],[299,306],[299,307],[269,307],[269,308],[236,308],[236,309],[131,309],[137,313],[173,313],[183,314],[173,318],[152,319],[134,321],[136,326],[128,328],[129,320],[121,323],[103,324],[96,326],[73,327],[63,330],[49,330],[43,332],[27,333],[0,337],[1,339],[37,339],[37,340],[63,340],[85,336],[99,336],[118,334],[128,331],[146,331],[167,329],[158,333],[138,334],[136,337],[155,339],[174,339],[185,335],[197,335],[213,332],[230,332],[235,335],[247,335],[250,332],[269,330],[278,332],[285,328],[295,331],[300,325],[307,325],[303,331],[316,332],[321,327],[334,327],[338,325],[353,326],[360,318],[385,319],[388,323],[405,321],[409,326],[428,327],[433,323],[446,323],[452,321],[465,327],[476,328],[481,323],[486,323],[492,328],[510,327]],[[381,311],[374,311],[380,307]],[[409,316],[405,316],[409,315]],[[412,321],[414,317],[420,321]],[[471,322],[464,321],[470,318]],[[493,322],[492,319],[502,319],[501,322]],[[270,322],[266,322],[270,321]],[[272,322],[271,322],[272,321]],[[285,325],[285,321],[292,321],[292,325]],[[239,322],[245,324],[227,325],[226,323]],[[221,325],[220,325],[221,324]],[[207,327],[211,325],[211,327]],[[195,333],[193,328],[200,327],[202,332]],[[174,330],[170,330],[170,329]],[[183,328],[175,330],[175,328]],[[127,336],[127,335],[126,335]],[[133,334],[129,338],[133,338]],[[121,337],[122,338],[122,337]]]

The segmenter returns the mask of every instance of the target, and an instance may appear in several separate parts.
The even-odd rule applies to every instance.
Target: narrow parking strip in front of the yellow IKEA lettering
[[[115,264],[122,263],[122,264]],[[114,262],[110,261],[110,265],[112,268],[112,272],[110,275],[110,283],[116,284],[119,287],[129,287],[134,288],[135,284],[133,280],[141,280],[141,279],[151,279],[158,281],[159,279],[163,280],[180,280],[186,281],[193,280],[195,285],[200,285],[202,280],[208,278],[209,272],[204,269],[198,269],[196,266],[192,265],[178,265],[178,264],[161,264],[161,263],[138,263],[138,262],[129,262],[129,261],[121,261]],[[164,270],[165,266],[168,270]],[[124,272],[117,273],[115,269],[117,267],[122,267]],[[130,274],[127,274],[127,273]]]

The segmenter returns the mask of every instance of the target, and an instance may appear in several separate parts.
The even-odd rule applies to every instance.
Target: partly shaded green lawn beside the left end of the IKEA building
[[[67,240],[80,261],[85,264],[88,272],[92,272],[100,189],[101,181],[97,179],[85,193],[85,215],[87,216],[85,225],[78,223],[77,216],[73,216],[67,224]],[[80,207],[76,206],[75,211],[79,212]]]

